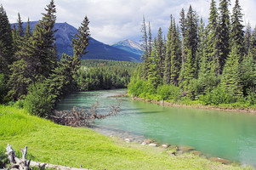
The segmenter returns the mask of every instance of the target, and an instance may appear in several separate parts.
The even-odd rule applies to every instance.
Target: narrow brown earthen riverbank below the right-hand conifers
[[[122,95],[122,96],[129,96],[128,94]],[[120,97],[122,97],[120,96]],[[173,106],[173,107],[188,107],[188,108],[196,108],[196,109],[208,109],[208,110],[215,110],[215,111],[236,111],[236,112],[242,112],[247,114],[256,114],[256,108],[246,108],[246,107],[234,107],[231,105],[202,105],[200,102],[192,101],[185,103],[179,103],[179,102],[168,102],[168,101],[158,101],[153,99],[143,99],[138,97],[129,96],[133,100],[139,100],[139,101],[145,101],[149,103],[154,103],[157,105],[167,105],[167,106]]]

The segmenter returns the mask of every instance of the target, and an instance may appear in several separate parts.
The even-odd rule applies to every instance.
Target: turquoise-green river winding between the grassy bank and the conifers
[[[71,94],[60,101],[57,109],[71,110],[74,105],[89,109],[99,101],[99,112],[106,113],[110,105],[117,105],[122,100],[121,113],[97,121],[96,127],[134,135],[138,140],[141,137],[155,139],[161,144],[190,145],[206,156],[256,167],[255,115],[161,106],[111,97],[124,93],[122,89]]]

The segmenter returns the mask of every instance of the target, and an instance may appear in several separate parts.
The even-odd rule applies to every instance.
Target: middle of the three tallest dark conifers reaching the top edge
[[[218,32],[218,54],[220,73],[223,71],[225,60],[230,54],[230,0],[219,1],[219,22],[217,27]]]

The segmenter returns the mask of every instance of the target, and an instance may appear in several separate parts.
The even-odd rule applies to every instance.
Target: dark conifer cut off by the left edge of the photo
[[[8,65],[14,62],[13,37],[8,16],[0,6],[0,73],[8,74]]]

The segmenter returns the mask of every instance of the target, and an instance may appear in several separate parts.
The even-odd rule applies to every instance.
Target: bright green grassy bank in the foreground
[[[28,159],[90,169],[242,169],[191,154],[169,156],[168,150],[126,144],[88,128],[56,125],[26,111],[0,105],[0,152],[11,144],[17,155],[28,146]]]

